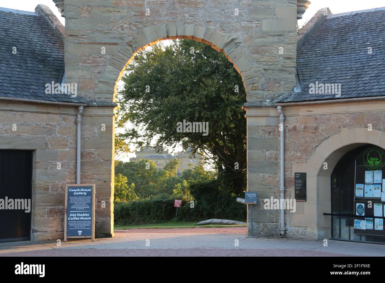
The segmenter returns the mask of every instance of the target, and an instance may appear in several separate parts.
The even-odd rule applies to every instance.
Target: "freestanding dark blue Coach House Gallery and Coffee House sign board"
[[[95,184],[65,186],[64,241],[95,240]]]

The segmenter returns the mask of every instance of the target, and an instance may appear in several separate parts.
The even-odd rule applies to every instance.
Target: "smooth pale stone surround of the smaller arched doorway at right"
[[[290,226],[295,223],[307,223],[307,238],[327,239],[330,237],[330,176],[337,162],[348,151],[364,145],[373,144],[385,149],[385,132],[368,128],[342,128],[316,147],[307,163],[302,164],[307,173],[308,199],[304,204],[304,213],[290,216]],[[327,169],[324,169],[325,162]],[[306,169],[305,169],[306,168]],[[312,223],[314,222],[315,223]]]

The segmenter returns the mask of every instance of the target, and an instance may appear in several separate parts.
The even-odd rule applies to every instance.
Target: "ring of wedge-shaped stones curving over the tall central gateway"
[[[226,58],[234,64],[234,68],[239,75],[241,75],[246,92],[247,90],[253,90],[253,86],[257,81],[248,75],[251,64],[240,51],[240,40],[226,36],[214,28],[200,27],[188,23],[168,23],[137,31],[129,42],[121,44],[116,52],[111,55],[109,63],[100,75],[99,85],[96,88],[114,89],[115,98],[116,83],[121,79],[127,65],[132,62],[137,52],[167,39],[196,40],[210,45],[218,52],[223,52]],[[244,76],[246,76],[246,80]]]

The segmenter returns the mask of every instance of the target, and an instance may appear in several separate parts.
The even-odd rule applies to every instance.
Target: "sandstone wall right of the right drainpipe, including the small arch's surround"
[[[330,175],[338,160],[360,144],[385,148],[385,103],[283,107],[285,121],[285,198],[295,198],[294,173],[307,173],[307,201],[286,211],[288,235],[324,239],[330,236]],[[308,115],[306,112],[315,114]],[[296,114],[293,112],[297,112]],[[298,113],[299,112],[299,113]],[[372,131],[368,131],[368,124]],[[323,169],[323,163],[328,169]]]

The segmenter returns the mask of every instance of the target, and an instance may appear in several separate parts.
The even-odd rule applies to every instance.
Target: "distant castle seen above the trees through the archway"
[[[191,149],[186,151],[178,151],[174,155],[169,153],[169,150],[157,152],[156,147],[142,147],[141,150],[136,150],[136,157],[131,157],[130,161],[139,161],[141,159],[149,159],[156,164],[157,169],[163,169],[163,167],[174,158],[179,160],[179,166],[177,168],[177,175],[181,176],[184,169],[194,167],[198,164],[202,165],[202,156],[195,154],[195,158],[190,158]]]

